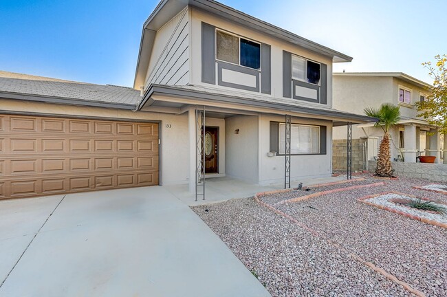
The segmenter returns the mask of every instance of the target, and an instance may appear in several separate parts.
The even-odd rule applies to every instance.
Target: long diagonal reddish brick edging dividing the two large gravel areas
[[[378,183],[378,184],[384,184],[384,183],[382,182],[382,183]],[[314,185],[314,187],[315,187],[315,185]],[[254,201],[259,203],[259,205],[264,206],[265,208],[268,208],[268,209],[272,210],[272,212],[278,214],[279,216],[284,217],[285,219],[288,219],[288,220],[292,221],[292,223],[295,223],[296,225],[299,225],[301,228],[309,231],[314,236],[323,238],[329,245],[332,245],[334,248],[337,248],[338,250],[342,251],[343,253],[349,255],[351,257],[351,259],[353,259],[355,261],[358,261],[358,262],[362,263],[363,265],[366,265],[367,267],[369,267],[374,272],[377,272],[378,274],[381,274],[382,276],[388,278],[393,283],[402,286],[404,289],[406,289],[411,294],[414,294],[417,297],[426,297],[426,295],[423,292],[420,292],[418,289],[414,289],[413,287],[411,287],[411,285],[409,285],[408,283],[405,283],[404,281],[400,281],[400,279],[398,279],[397,277],[393,276],[393,274],[390,274],[389,272],[386,272],[386,270],[384,270],[384,269],[374,265],[373,263],[368,262],[368,261],[362,259],[362,257],[360,257],[360,256],[358,256],[356,254],[353,254],[352,252],[349,252],[348,250],[343,248],[338,243],[336,243],[334,241],[331,241],[330,239],[324,238],[324,236],[319,234],[316,230],[314,230],[312,228],[309,228],[307,225],[305,225],[303,223],[300,223],[298,220],[294,219],[294,217],[290,216],[289,214],[286,214],[285,212],[282,212],[281,210],[274,208],[270,204],[265,203],[264,201],[261,201],[261,199],[260,199],[260,197],[262,197],[264,195],[267,195],[267,194],[276,194],[276,193],[280,193],[280,192],[289,192],[289,191],[290,191],[290,189],[287,189],[287,190],[276,190],[276,191],[270,191],[270,192],[259,192],[259,193],[254,195]]]

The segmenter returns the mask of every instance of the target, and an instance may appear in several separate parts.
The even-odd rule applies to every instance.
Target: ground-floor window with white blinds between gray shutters
[[[290,153],[320,153],[320,126],[292,124],[290,127]],[[279,124],[279,153],[285,153],[285,124]]]

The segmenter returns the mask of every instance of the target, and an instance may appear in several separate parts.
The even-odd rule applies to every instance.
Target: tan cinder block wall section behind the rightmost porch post
[[[366,140],[352,140],[352,170],[364,170],[364,146]],[[347,169],[347,144],[346,140],[332,140],[332,168],[334,170]]]

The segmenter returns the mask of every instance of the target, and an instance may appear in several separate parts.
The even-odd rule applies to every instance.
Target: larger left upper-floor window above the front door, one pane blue
[[[220,30],[216,34],[217,60],[261,69],[261,44]]]

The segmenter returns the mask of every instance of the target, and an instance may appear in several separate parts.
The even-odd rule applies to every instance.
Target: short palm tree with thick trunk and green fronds
[[[380,177],[393,177],[393,168],[391,167],[391,151],[389,129],[397,124],[400,120],[400,108],[394,104],[385,103],[380,105],[379,109],[368,107],[364,109],[364,113],[372,118],[378,118],[374,126],[382,128],[384,136],[380,142],[377,167],[375,175]]]

